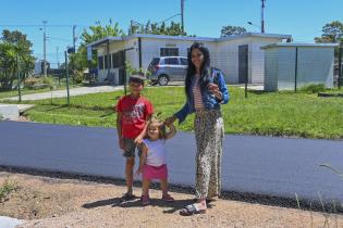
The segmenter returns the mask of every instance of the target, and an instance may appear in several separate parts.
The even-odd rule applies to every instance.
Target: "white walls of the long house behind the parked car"
[[[240,39],[222,41],[201,41],[210,51],[211,66],[222,69],[229,84],[238,83],[238,46],[248,45],[248,78],[249,83],[262,84],[265,79],[265,55],[260,47],[281,41],[279,38],[243,37]],[[180,56],[187,56],[187,49],[194,43],[193,40],[142,38],[142,68],[146,71],[154,58],[160,56],[160,48],[177,48]],[[134,48],[126,51],[126,61],[135,68],[139,68],[138,38],[124,41],[111,41],[110,53],[123,49]],[[106,46],[98,48],[98,55],[106,54]],[[111,68],[118,84],[118,68]],[[102,81],[108,75],[107,69],[99,69],[99,80]]]

